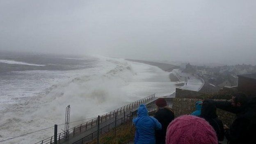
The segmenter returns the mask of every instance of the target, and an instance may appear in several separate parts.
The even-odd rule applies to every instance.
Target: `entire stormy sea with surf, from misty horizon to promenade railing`
[[[40,63],[35,60],[39,58]],[[49,55],[0,59],[4,59],[0,66],[8,68],[0,73],[0,140],[64,123],[67,105],[71,105],[71,121],[77,121],[154,93],[169,95],[176,88],[168,72],[124,59]],[[71,123],[71,127],[82,122]],[[50,128],[3,143],[27,144],[52,135]]]

